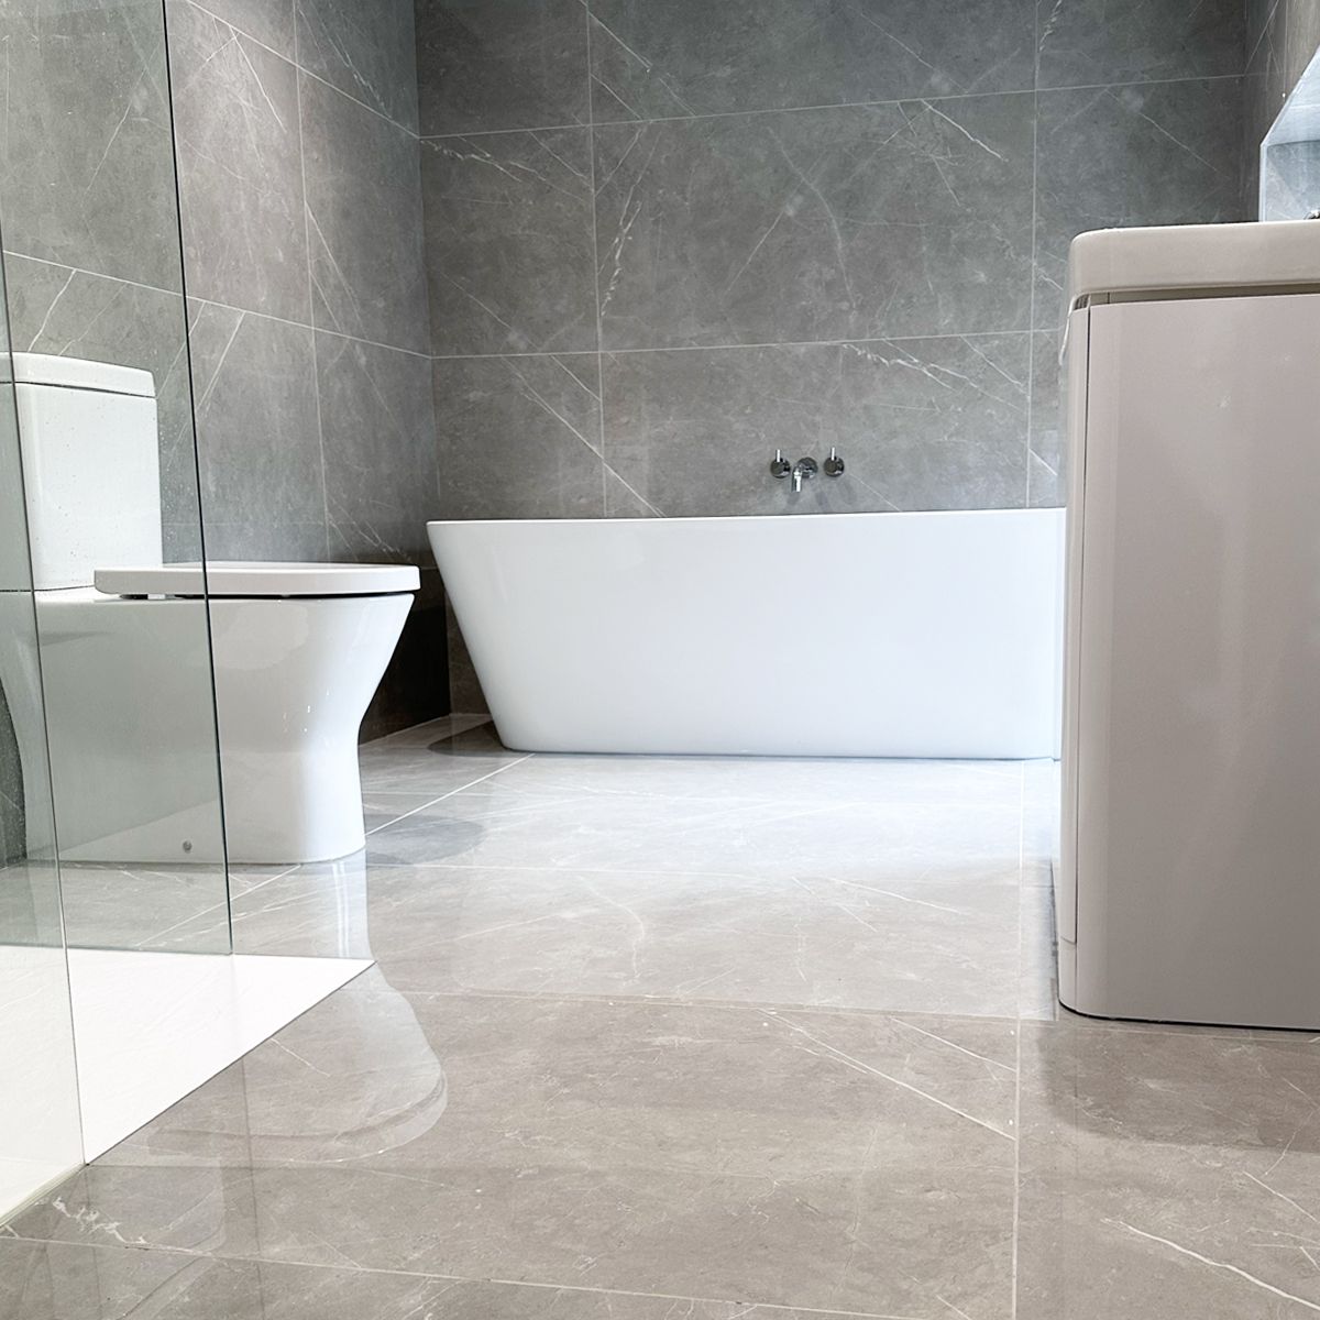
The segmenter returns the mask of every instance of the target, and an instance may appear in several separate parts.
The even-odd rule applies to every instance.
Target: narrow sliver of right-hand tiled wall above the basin
[[[1320,0],[1246,0],[1246,123],[1242,152],[1243,206],[1259,214],[1259,147],[1288,94],[1320,48]],[[1288,157],[1291,156],[1291,160]],[[1315,149],[1294,148],[1283,153],[1291,181],[1302,185],[1296,206],[1284,219],[1304,215],[1320,206],[1320,160]]]

